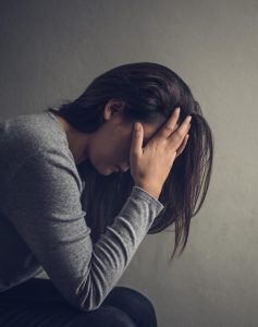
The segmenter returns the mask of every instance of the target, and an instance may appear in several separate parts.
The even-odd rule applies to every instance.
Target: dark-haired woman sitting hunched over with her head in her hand
[[[206,197],[213,140],[188,86],[124,64],[0,136],[0,325],[157,326],[149,299],[115,284],[147,233],[174,223],[182,254]]]

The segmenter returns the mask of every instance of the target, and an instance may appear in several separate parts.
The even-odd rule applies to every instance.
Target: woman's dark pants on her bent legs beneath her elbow
[[[32,278],[0,293],[0,327],[157,327],[148,298],[114,287],[100,307],[82,312],[67,303],[50,279]]]

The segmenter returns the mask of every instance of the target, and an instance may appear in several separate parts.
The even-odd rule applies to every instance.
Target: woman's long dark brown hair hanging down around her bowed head
[[[175,158],[159,197],[164,208],[148,231],[148,234],[158,233],[174,223],[173,259],[182,237],[180,255],[183,253],[191,219],[199,211],[207,195],[213,159],[211,130],[186,83],[171,69],[153,62],[111,69],[96,77],[77,99],[63,102],[58,110],[48,110],[78,131],[90,133],[102,124],[103,108],[111,98],[125,105],[124,116],[130,121],[151,123],[160,113],[168,119],[176,107],[181,108],[179,124],[187,114],[192,116],[187,145]],[[130,196],[134,180],[130,170],[101,175],[89,160],[81,162],[77,169],[85,180],[82,204],[93,242],[96,242]]]

